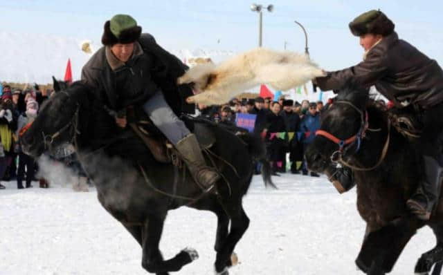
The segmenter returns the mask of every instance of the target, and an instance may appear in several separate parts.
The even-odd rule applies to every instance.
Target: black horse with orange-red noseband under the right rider
[[[357,209],[367,225],[356,259],[363,272],[390,272],[417,229],[428,225],[437,245],[422,254],[415,272],[428,274],[436,264],[433,274],[440,274],[443,205],[440,199],[426,223],[406,208],[406,200],[424,176],[424,168],[416,146],[401,134],[401,129],[392,126],[391,118],[392,113],[377,106],[365,89],[344,88],[320,117],[320,131],[305,152],[308,168],[327,176],[331,176],[329,167],[335,163],[352,168]]]

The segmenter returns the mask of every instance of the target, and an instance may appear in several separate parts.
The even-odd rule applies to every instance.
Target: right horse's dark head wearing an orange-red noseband
[[[308,169],[328,174],[333,162],[349,160],[361,149],[368,130],[368,99],[368,89],[348,84],[325,108],[316,138],[305,151]]]

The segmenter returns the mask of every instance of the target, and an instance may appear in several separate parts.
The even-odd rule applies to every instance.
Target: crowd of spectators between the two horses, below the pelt
[[[233,99],[223,106],[198,106],[200,117],[224,126],[235,127],[239,113],[255,115],[253,132],[260,135],[266,144],[267,159],[271,162],[273,173],[303,175],[308,175],[303,151],[320,127],[322,108],[321,101],[303,100],[300,103],[284,97],[280,97],[278,102],[270,97],[256,97]],[[260,164],[256,173],[260,173]],[[311,172],[310,176],[317,177],[318,174]]]

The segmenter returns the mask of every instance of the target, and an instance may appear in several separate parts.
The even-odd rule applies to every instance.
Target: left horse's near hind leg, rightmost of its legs
[[[215,272],[219,275],[228,274],[228,267],[232,265],[230,256],[233,254],[235,245],[249,226],[249,218],[244,212],[241,198],[230,200],[226,204],[226,211],[230,218],[230,231],[215,259]]]

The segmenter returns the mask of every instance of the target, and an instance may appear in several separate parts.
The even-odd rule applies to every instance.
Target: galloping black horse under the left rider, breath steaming
[[[40,155],[63,142],[73,142],[96,184],[98,200],[143,248],[142,266],[148,272],[177,272],[198,256],[193,249],[183,249],[163,260],[159,241],[168,210],[188,206],[213,211],[217,215],[215,271],[228,274],[235,245],[249,224],[242,197],[251,184],[253,159],[265,154],[261,140],[187,120],[191,128],[206,129],[216,139],[205,152],[222,179],[216,184],[217,192],[202,193],[186,168],[154,160],[142,139],[134,131],[116,126],[108,111],[88,86],[74,83],[42,106],[21,137],[24,151]],[[263,178],[265,184],[271,183],[270,171],[264,171]]]

